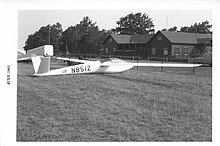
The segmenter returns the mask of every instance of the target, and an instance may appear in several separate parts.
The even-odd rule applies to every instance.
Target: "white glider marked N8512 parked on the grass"
[[[146,67],[199,67],[202,64],[171,64],[171,63],[131,63],[118,58],[107,60],[80,60],[61,58],[56,59],[78,62],[80,64],[50,70],[50,57],[31,57],[34,66],[34,76],[66,75],[66,74],[88,74],[88,73],[121,73],[134,66]]]

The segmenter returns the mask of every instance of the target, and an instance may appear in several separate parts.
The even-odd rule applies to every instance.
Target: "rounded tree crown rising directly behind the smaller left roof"
[[[149,34],[154,33],[153,21],[147,14],[128,14],[125,17],[121,17],[119,21],[116,22],[119,26],[114,29],[117,34]]]

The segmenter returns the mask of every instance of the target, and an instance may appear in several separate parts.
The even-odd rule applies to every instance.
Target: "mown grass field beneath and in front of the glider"
[[[18,63],[17,141],[212,141],[211,67],[32,74]]]

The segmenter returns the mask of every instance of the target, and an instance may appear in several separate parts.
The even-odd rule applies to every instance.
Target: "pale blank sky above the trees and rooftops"
[[[61,23],[63,30],[78,24],[88,16],[100,29],[112,29],[121,17],[130,13],[146,13],[153,20],[156,32],[163,28],[191,26],[206,20],[212,24],[211,10],[19,10],[18,11],[18,49],[22,50],[28,35],[40,27],[56,22]]]

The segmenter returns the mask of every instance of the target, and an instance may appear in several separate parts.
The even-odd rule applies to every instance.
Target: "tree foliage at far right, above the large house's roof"
[[[212,25],[209,24],[208,21],[204,21],[202,23],[195,23],[190,27],[184,26],[180,28],[181,32],[190,32],[190,33],[211,33]]]

